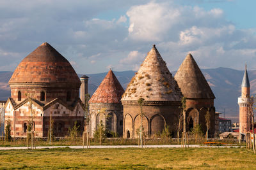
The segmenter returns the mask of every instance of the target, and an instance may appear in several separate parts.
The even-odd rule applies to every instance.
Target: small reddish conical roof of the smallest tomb
[[[124,89],[110,69],[89,103],[121,103],[122,94],[124,94]]]

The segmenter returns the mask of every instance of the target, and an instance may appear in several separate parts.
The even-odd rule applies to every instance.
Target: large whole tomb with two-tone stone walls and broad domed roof
[[[31,124],[36,137],[46,137],[50,117],[56,137],[66,136],[77,125],[83,131],[84,106],[79,99],[81,81],[67,59],[48,43],[42,43],[17,66],[5,104],[5,125],[12,137],[25,137]]]

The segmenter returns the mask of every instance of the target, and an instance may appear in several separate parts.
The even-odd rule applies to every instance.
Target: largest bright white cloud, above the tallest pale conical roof
[[[180,15],[178,10],[166,8],[165,5],[152,2],[132,6],[126,13],[130,22],[129,36],[134,40],[160,41]]]

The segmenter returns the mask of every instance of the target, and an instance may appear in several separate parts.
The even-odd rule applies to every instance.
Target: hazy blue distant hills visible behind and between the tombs
[[[216,99],[214,100],[216,111],[223,113],[225,110],[225,116],[227,118],[232,118],[232,120],[238,121],[239,107],[237,105],[237,97],[241,96],[241,81],[243,79],[244,71],[219,67],[216,69],[202,69],[202,72],[216,96]],[[135,72],[114,71],[114,73],[121,85],[126,89],[127,84],[131,81]],[[174,75],[175,71],[172,73]],[[91,96],[106,74],[107,73],[86,74],[89,76],[88,91]],[[251,92],[252,94],[256,94],[256,71],[248,71],[248,74],[251,80]],[[78,74],[79,77],[81,75],[82,74]],[[11,76],[12,72],[10,71],[0,71],[0,100],[6,100],[10,96],[8,81]],[[224,115],[221,115],[221,117],[223,116]]]

